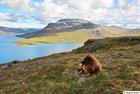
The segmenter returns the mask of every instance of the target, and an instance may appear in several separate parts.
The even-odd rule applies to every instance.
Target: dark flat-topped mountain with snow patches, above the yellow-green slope
[[[41,37],[54,33],[70,32],[79,29],[96,28],[99,25],[83,19],[61,19],[56,23],[49,23],[46,27],[35,33],[20,35],[19,37]]]

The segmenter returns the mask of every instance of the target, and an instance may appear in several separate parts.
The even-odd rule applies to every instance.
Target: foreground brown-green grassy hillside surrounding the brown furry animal
[[[87,53],[103,71],[90,78],[76,73]],[[88,40],[69,53],[0,65],[0,94],[122,94],[140,90],[140,37]]]

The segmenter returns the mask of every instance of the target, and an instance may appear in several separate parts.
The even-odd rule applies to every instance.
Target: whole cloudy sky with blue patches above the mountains
[[[42,28],[64,18],[140,28],[140,0],[0,0],[0,26]]]

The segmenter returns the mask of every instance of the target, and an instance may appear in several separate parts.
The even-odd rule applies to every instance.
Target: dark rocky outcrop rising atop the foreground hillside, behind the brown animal
[[[121,47],[127,45],[140,44],[140,37],[117,37],[117,38],[103,38],[103,39],[89,39],[84,43],[83,47],[80,47],[73,52],[95,52],[100,49],[110,49],[112,47]]]

